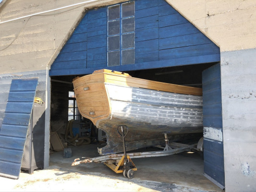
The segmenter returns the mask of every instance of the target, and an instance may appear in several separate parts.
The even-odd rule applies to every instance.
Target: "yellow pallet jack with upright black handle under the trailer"
[[[121,128],[122,134],[119,132]],[[126,129],[126,133],[124,134],[124,129]],[[130,156],[126,155],[126,147],[125,147],[125,136],[129,132],[129,128],[126,125],[120,125],[117,128],[117,132],[122,136],[122,142],[123,142],[123,156],[116,165],[115,163],[109,163],[105,162],[104,165],[111,168],[116,173],[123,173],[124,177],[128,177],[129,179],[132,179],[134,177],[134,171],[137,170],[137,168],[134,165],[134,162],[130,158]]]

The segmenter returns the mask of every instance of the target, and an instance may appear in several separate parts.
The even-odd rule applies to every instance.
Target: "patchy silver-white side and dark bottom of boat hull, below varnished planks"
[[[129,127],[126,149],[134,150],[164,144],[164,134],[170,142],[202,137],[202,98],[136,87],[105,84],[110,98],[111,114],[98,120],[96,126],[107,133],[107,145],[100,155],[122,152],[119,125]]]

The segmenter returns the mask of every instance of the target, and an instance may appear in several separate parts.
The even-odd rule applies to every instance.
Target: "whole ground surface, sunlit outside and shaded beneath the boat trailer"
[[[124,178],[103,163],[71,166],[74,158],[98,156],[101,145],[71,147],[50,155],[50,166],[33,174],[21,171],[18,180],[0,177],[0,192],[223,192],[203,176],[203,159],[195,153],[134,158],[134,178]]]

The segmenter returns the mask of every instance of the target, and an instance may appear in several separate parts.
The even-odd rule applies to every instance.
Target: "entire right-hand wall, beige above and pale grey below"
[[[225,187],[256,191],[256,1],[167,0],[220,47]]]

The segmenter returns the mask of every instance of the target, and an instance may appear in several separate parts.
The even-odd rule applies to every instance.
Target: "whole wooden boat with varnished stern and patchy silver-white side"
[[[202,89],[98,70],[73,80],[81,115],[107,134],[100,155],[122,152],[119,125],[129,127],[126,150],[199,139],[203,132]]]

